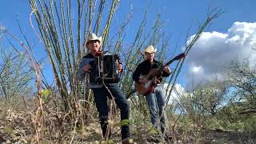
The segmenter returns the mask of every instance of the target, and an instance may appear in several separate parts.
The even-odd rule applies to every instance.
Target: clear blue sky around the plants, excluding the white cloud
[[[205,20],[209,7],[215,8],[218,6],[224,11],[224,14],[212,22],[206,29],[207,32],[217,31],[220,34],[227,34],[232,26],[240,26],[234,26],[234,22],[256,22],[255,0],[122,0],[116,18],[122,19],[131,6],[134,9],[134,18],[130,25],[135,27],[138,27],[141,22],[146,6],[149,6],[148,22],[154,22],[155,14],[162,13],[162,20],[166,22],[166,32],[171,35],[170,49],[178,44],[179,51],[182,51],[182,46],[186,43],[185,38],[189,27],[191,26],[190,35],[194,34],[198,28],[198,22]],[[45,57],[42,44],[38,42],[34,31],[30,27],[29,16],[31,10],[28,0],[2,0],[0,10],[0,26],[6,26],[13,34],[22,38],[16,22],[16,16],[18,15],[22,30],[34,46],[35,54],[38,58]],[[36,24],[34,25],[36,26]],[[129,32],[134,34],[136,30],[132,27]],[[220,45],[222,44],[220,43]],[[211,54],[210,50],[208,54]],[[190,63],[191,66],[194,63]],[[189,66],[188,64],[184,67],[182,74],[179,76],[178,82],[182,86],[185,86],[188,82],[186,78],[190,76],[187,74],[187,71],[191,68]],[[196,66],[194,68],[200,68],[198,65],[193,66]],[[45,70],[49,69],[50,66],[46,66]],[[48,77],[52,78],[50,75]]]

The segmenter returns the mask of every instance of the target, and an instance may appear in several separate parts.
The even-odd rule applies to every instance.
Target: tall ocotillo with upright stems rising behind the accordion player
[[[99,34],[102,30],[102,48],[104,48],[118,3],[118,0],[113,0],[111,6],[107,7],[109,3],[105,0],[100,2],[30,0],[34,19],[38,24],[38,29],[35,31],[39,31],[45,45],[65,110],[70,110],[70,106],[74,108],[73,100],[77,102],[79,97],[88,99],[90,95],[88,86],[83,87],[76,78],[78,61],[86,52],[82,43],[86,41],[90,32]],[[104,10],[105,7],[108,10]],[[107,17],[104,23],[103,13]],[[73,14],[77,17],[74,18]],[[32,22],[31,24],[33,26]],[[81,95],[82,91],[85,93]]]

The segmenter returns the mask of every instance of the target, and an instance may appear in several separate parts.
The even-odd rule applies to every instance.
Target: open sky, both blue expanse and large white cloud
[[[169,50],[178,47],[178,52],[198,30],[198,24],[204,22],[209,8],[220,8],[223,14],[214,19],[199,38],[186,58],[182,73],[178,76],[178,86],[188,87],[192,83],[210,80],[225,70],[231,60],[250,59],[252,67],[256,65],[256,1],[255,0],[121,0],[116,18],[122,19],[130,9],[134,10],[134,18],[128,32],[135,29],[142,21],[145,8],[148,7],[148,23],[154,22],[155,15],[162,14],[166,22],[165,31],[171,35]],[[13,34],[22,38],[16,18],[22,30],[34,47],[38,59],[45,58],[42,43],[38,42],[31,29],[28,0],[1,0],[0,26],[5,26]],[[35,24],[34,24],[35,25]],[[189,31],[189,32],[188,32]],[[172,66],[170,66],[172,68]],[[49,71],[45,66],[44,71]],[[48,78],[52,75],[48,74]]]

